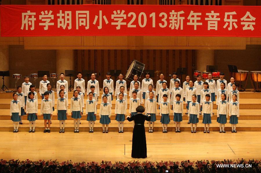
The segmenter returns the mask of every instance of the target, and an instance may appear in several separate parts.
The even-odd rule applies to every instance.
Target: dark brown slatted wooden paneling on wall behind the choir
[[[193,62],[195,64],[195,51],[193,50],[123,50],[123,49],[102,49],[102,50],[76,50],[77,51],[77,69],[94,70],[99,74],[97,80],[102,82],[105,79],[106,72],[111,69],[119,69],[126,75],[129,65],[133,59],[145,64],[145,70],[160,70],[165,74],[165,80],[170,81],[169,74],[177,71],[179,67],[188,68],[188,74],[192,74]],[[145,71],[144,71],[145,72]],[[160,75],[160,73],[159,73]],[[86,79],[86,78],[85,78]],[[88,77],[89,80],[90,77]],[[113,77],[114,79],[114,77]],[[142,76],[143,79],[143,76]],[[159,78],[158,78],[159,79]],[[182,76],[185,79],[185,75]],[[157,80],[155,74],[154,80]],[[141,81],[141,80],[140,80]],[[102,84],[100,84],[102,85]],[[168,84],[169,85],[169,84]],[[102,86],[101,86],[102,87]]]

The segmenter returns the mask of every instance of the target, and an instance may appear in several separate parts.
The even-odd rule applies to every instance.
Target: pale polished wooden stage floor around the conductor
[[[150,161],[260,159],[261,132],[146,132]],[[6,160],[130,161],[132,132],[0,132],[0,157]],[[135,159],[137,160],[137,159]]]

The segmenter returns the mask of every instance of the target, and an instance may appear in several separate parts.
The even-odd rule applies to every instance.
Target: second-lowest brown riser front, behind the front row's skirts
[[[115,120],[115,117],[116,117],[115,115],[112,115],[110,117],[110,119]],[[37,118],[38,118],[38,120],[44,120],[43,116],[41,116],[41,115],[37,115]],[[174,118],[174,116],[171,115],[170,120],[173,121],[173,118]],[[229,118],[230,117],[227,118],[228,121],[229,121]],[[156,119],[160,120],[160,115],[157,115]],[[10,115],[1,115],[0,120],[10,120]],[[57,120],[57,115],[53,115],[52,120]],[[73,118],[70,115],[68,115],[67,120],[73,120]],[[87,120],[87,116],[82,115],[81,120]],[[100,117],[98,115],[96,115],[96,120],[100,120]],[[182,120],[189,120],[188,115],[182,116]],[[200,115],[199,120],[203,120],[202,115]],[[217,115],[213,115],[211,117],[211,120],[216,121]],[[238,117],[238,120],[261,120],[261,115],[260,116],[242,115],[242,116]],[[27,121],[27,115],[23,115],[23,121]]]

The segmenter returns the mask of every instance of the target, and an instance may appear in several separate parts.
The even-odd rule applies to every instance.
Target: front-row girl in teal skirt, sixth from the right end
[[[163,101],[160,101],[160,122],[162,123],[162,133],[168,133],[167,127],[170,122],[169,114],[171,113],[170,102],[167,101],[168,95],[163,94]]]

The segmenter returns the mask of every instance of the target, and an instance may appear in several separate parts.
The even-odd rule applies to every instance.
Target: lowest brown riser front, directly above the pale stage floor
[[[227,127],[225,127],[226,133],[231,133],[232,128],[231,128],[230,124],[229,125],[226,124],[226,125],[227,125]],[[237,127],[236,129],[239,133],[240,133],[240,131],[261,131],[261,127]],[[0,131],[12,132],[13,130],[14,130],[14,128],[12,128],[12,127],[0,127]],[[58,133],[60,131],[60,127],[52,127],[51,126],[50,130],[51,130],[51,133]],[[80,128],[79,128],[80,133],[89,133],[89,130],[90,130],[89,127],[81,127],[80,126]],[[211,133],[219,133],[219,130],[220,130],[219,127],[210,127],[209,128],[209,131]],[[22,127],[22,125],[21,125],[21,126],[19,126],[19,131],[20,132],[28,132],[29,127]],[[35,131],[36,131],[36,133],[35,133],[36,135],[37,135],[37,133],[43,133],[44,127],[35,127]],[[94,133],[102,133],[102,127],[94,127],[94,131],[95,131]],[[118,127],[110,127],[109,126],[108,131],[109,132],[118,132],[119,129],[118,129]],[[125,132],[132,132],[133,128],[132,127],[124,127],[124,131]],[[148,127],[145,127],[145,131],[146,131],[146,135],[150,135],[150,133],[148,133]],[[153,131],[157,132],[157,133],[162,133],[162,127],[154,127]],[[168,127],[169,133],[173,133],[173,135],[175,135],[175,131],[176,131],[175,127]],[[181,133],[183,133],[183,132],[184,133],[191,133],[191,128],[190,127],[180,127],[180,131],[181,131]],[[204,131],[204,127],[197,127],[197,133],[203,133],[203,131]],[[74,127],[65,127],[65,132],[66,133],[73,133]],[[224,133],[221,133],[220,135],[222,135],[222,134],[224,134]],[[46,133],[46,135],[48,135],[48,134]],[[119,134],[119,135],[122,135],[122,134]],[[153,134],[151,134],[151,135],[153,135]],[[164,135],[164,134],[162,134],[162,135]]]

